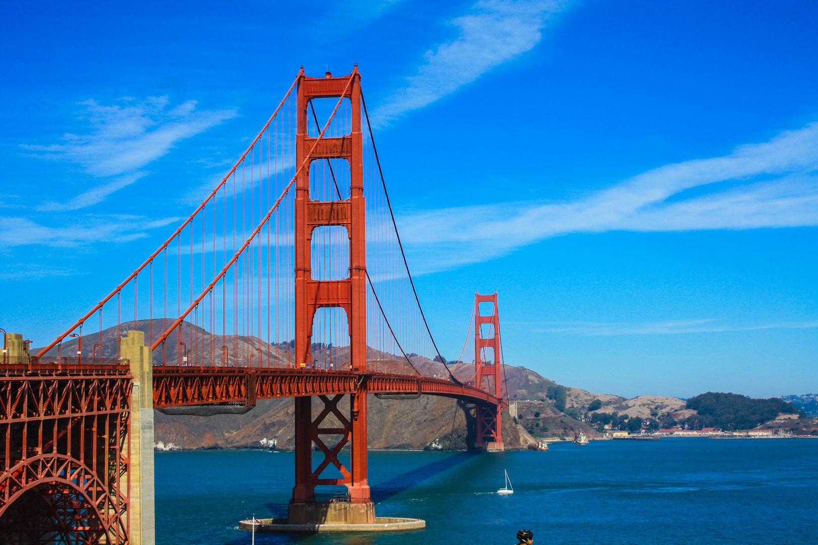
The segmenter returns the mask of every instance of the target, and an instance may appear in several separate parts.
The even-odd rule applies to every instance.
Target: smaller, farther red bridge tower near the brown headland
[[[480,315],[480,303],[489,303],[492,312]],[[487,327],[482,327],[487,326]],[[492,360],[487,360],[487,348],[492,349]],[[501,424],[501,364],[500,364],[500,315],[497,310],[497,292],[492,295],[474,293],[474,372],[475,385],[482,389],[486,382],[488,391],[497,398],[497,404],[479,404],[477,406],[477,441],[476,446],[485,447],[488,443],[502,443]],[[484,380],[485,379],[485,380]]]

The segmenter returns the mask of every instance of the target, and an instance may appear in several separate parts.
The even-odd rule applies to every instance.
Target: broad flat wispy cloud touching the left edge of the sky
[[[24,217],[7,217],[0,223],[0,248],[40,244],[54,248],[73,248],[95,242],[127,242],[142,239],[146,231],[181,220],[166,217],[148,220],[136,216],[85,216],[70,226],[49,227]]]

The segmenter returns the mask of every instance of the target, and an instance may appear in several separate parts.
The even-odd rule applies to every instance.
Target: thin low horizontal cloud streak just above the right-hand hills
[[[721,333],[727,331],[757,331],[759,329],[805,329],[818,328],[818,322],[775,322],[772,324],[731,325],[719,324],[717,319],[691,319],[668,322],[597,323],[557,322],[542,324],[534,332],[569,333],[588,337],[610,335],[675,335],[681,333]]]

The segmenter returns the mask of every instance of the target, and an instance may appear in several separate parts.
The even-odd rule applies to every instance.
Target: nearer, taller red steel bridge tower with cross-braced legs
[[[321,148],[308,136],[308,108],[317,98],[344,99],[351,106],[349,135],[325,138]],[[338,107],[335,107],[337,111]],[[361,133],[361,76],[357,65],[352,74],[340,78],[308,78],[303,69],[298,80],[298,134],[295,157],[306,163],[295,183],[295,363],[299,369],[312,368],[312,322],[321,307],[344,309],[349,332],[349,364],[353,373],[366,371],[366,208],[363,196],[363,145]],[[335,111],[333,115],[335,115]],[[331,121],[330,116],[330,121]],[[329,123],[329,122],[327,122]],[[318,150],[318,153],[315,153]],[[346,159],[349,168],[349,199],[320,202],[310,194],[310,165],[318,159]],[[320,226],[343,226],[349,244],[349,275],[347,279],[321,280],[312,277],[312,233]],[[328,462],[339,467],[344,475],[353,503],[371,502],[366,476],[366,377],[353,382],[351,418],[344,427],[344,437],[351,442],[351,462],[344,468],[334,450],[322,448],[325,457],[321,471]],[[332,398],[332,407],[337,397]],[[328,398],[322,397],[325,404]],[[330,405],[327,405],[328,407]],[[312,472],[312,441],[317,441],[323,417],[312,420],[312,402],[299,400],[295,405],[295,486],[293,501],[303,503],[314,498],[315,486],[327,484],[318,478],[321,471]],[[332,409],[336,412],[336,409]],[[324,411],[326,413],[326,411]],[[321,413],[321,414],[324,414]],[[308,440],[308,437],[312,438]],[[316,444],[321,446],[320,441]],[[343,446],[343,445],[341,445]],[[340,447],[336,445],[336,449]],[[308,471],[308,468],[310,471]],[[340,483],[333,483],[340,484]]]

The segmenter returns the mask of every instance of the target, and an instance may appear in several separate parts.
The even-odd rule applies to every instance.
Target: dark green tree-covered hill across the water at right
[[[722,430],[747,430],[769,422],[779,415],[796,414],[798,409],[777,397],[753,400],[747,395],[708,391],[687,400],[687,408],[698,414],[685,420],[690,429],[719,427]]]

